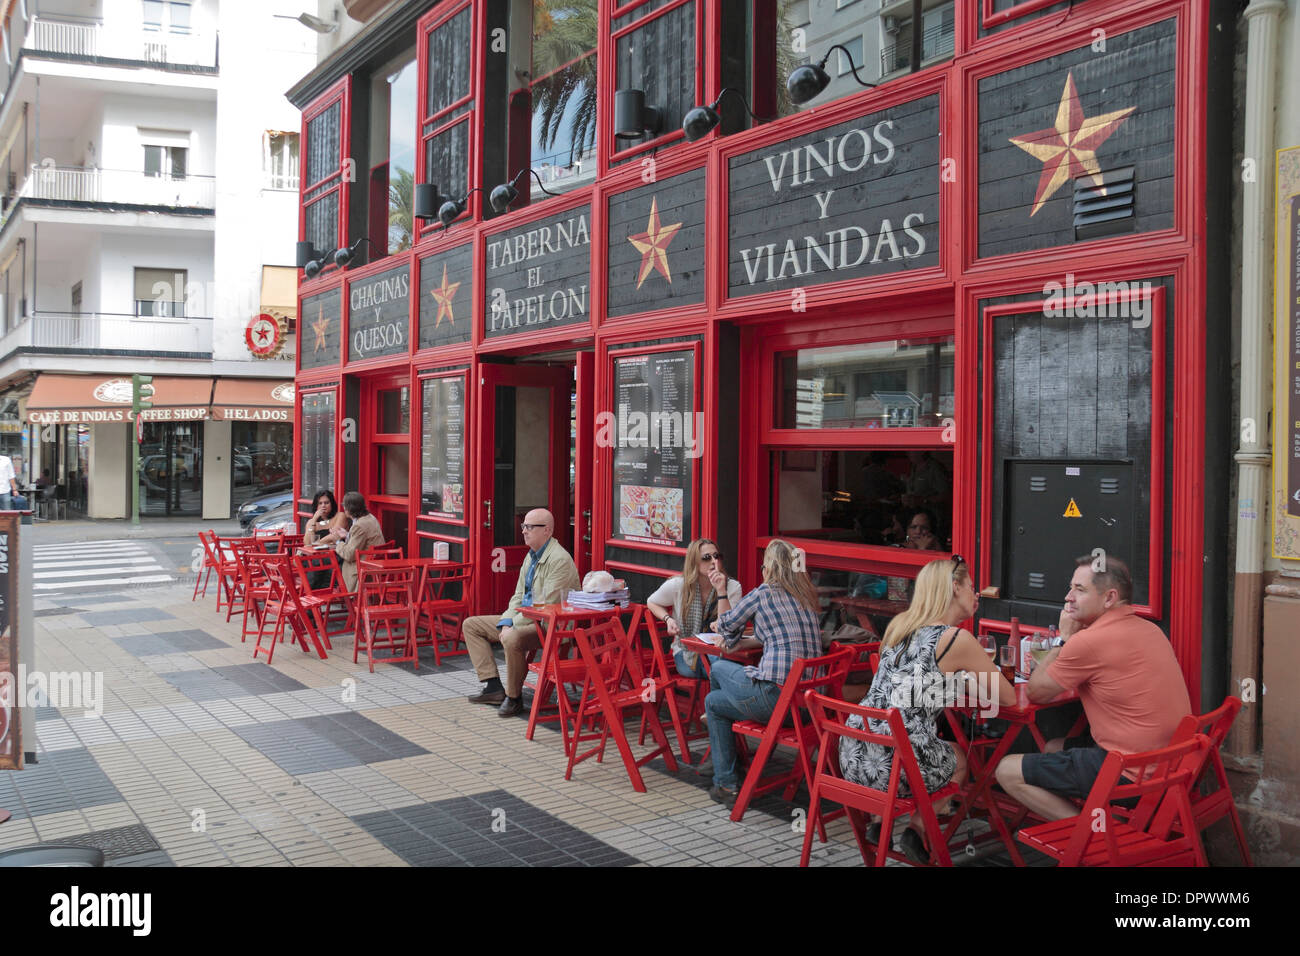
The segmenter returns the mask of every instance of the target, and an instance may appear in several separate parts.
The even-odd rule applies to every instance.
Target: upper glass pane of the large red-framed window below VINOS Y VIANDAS
[[[892,339],[776,356],[776,428],[941,427],[953,414],[953,338]]]

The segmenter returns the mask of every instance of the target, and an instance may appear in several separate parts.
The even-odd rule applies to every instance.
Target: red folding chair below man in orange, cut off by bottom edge
[[[1147,753],[1112,750],[1079,816],[1015,836],[1061,866],[1208,866],[1190,791],[1209,749],[1196,734]],[[1112,805],[1134,799],[1134,809]]]

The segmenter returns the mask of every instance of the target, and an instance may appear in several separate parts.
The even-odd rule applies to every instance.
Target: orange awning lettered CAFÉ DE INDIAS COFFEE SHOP
[[[153,376],[153,403],[146,421],[202,421],[212,405],[212,378]],[[36,425],[131,420],[131,380],[101,375],[42,373],[27,398],[27,421]]]

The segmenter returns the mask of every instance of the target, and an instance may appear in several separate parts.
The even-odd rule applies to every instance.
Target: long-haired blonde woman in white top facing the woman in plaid
[[[650,613],[663,622],[672,637],[672,661],[677,674],[705,680],[708,671],[699,654],[681,646],[681,637],[694,637],[707,623],[740,601],[741,587],[723,570],[723,553],[707,537],[686,548],[681,574],[670,578],[646,600]]]

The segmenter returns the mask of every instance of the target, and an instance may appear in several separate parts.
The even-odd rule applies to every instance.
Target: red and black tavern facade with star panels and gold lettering
[[[411,551],[473,559],[485,613],[538,506],[637,600],[699,536],[746,588],[780,536],[881,609],[961,553],[992,632],[1054,622],[1101,549],[1217,702],[1230,5],[874,4],[879,69],[788,4],[526,7],[398,4],[291,91],[326,263],[300,285],[303,512],[360,490]],[[542,48],[582,17],[590,48]],[[762,120],[728,95],[690,142],[728,87]],[[618,138],[633,88],[649,131]],[[412,216],[417,183],[464,208]],[[918,511],[937,540],[893,546]]]

